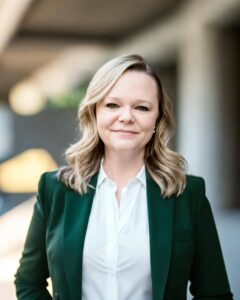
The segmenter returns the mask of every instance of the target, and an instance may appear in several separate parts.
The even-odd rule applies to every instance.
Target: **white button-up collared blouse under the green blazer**
[[[83,300],[152,299],[146,172],[122,190],[101,167],[83,251]]]

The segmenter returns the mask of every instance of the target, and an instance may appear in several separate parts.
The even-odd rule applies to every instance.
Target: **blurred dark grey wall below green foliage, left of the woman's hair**
[[[59,165],[64,151],[79,138],[77,109],[45,110],[34,116],[12,115],[15,153],[28,148],[44,148]]]

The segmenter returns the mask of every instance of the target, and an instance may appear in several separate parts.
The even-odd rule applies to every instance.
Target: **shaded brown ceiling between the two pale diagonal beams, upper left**
[[[181,2],[33,0],[0,55],[0,97],[6,99],[14,84],[50,63],[65,48],[109,49],[163,20]]]

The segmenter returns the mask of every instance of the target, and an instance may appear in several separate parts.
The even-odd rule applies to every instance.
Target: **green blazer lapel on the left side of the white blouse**
[[[97,175],[90,182],[94,188],[89,188],[83,196],[74,190],[66,189],[62,241],[64,268],[71,299],[81,299],[82,295],[83,246]]]

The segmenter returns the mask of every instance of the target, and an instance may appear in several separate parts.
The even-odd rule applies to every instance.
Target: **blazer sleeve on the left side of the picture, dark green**
[[[52,299],[47,290],[49,277],[46,244],[45,216],[43,209],[44,176],[39,182],[39,192],[34,206],[33,216],[20,259],[20,266],[15,275],[18,300]]]

